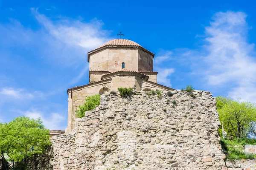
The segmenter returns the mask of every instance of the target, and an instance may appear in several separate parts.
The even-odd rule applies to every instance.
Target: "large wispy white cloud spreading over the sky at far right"
[[[256,50],[248,42],[246,17],[244,12],[218,12],[205,27],[205,34],[199,36],[204,45],[172,52],[209,90],[226,88],[233,98],[256,102]]]

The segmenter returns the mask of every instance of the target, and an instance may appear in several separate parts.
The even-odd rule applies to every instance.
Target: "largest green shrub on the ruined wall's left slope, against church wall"
[[[86,111],[90,111],[96,108],[100,102],[100,95],[95,94],[92,96],[87,96],[83,105],[78,106],[78,110],[76,111],[76,117],[84,117]]]

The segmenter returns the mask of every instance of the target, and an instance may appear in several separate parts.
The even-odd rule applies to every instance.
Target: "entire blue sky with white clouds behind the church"
[[[0,122],[67,127],[67,88],[88,83],[87,51],[135,41],[156,54],[158,83],[256,102],[253,1],[1,1]]]

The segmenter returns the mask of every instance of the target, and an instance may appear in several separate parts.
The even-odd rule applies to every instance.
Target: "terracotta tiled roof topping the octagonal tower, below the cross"
[[[127,40],[127,39],[115,39],[115,40],[111,40],[106,42],[105,44],[99,46],[98,48],[92,50],[92,51],[97,51],[100,48],[103,48],[105,46],[127,46],[127,47],[141,47],[143,48],[143,46],[141,46],[140,44],[138,44],[137,42],[131,41],[131,40]],[[146,48],[143,48],[144,50],[148,51]],[[92,51],[89,51],[88,54]],[[151,51],[148,51],[150,53],[152,53]],[[154,54],[154,53],[152,53]]]

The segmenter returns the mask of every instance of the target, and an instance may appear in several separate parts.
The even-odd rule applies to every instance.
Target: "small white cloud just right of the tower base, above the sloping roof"
[[[159,72],[157,74],[157,83],[172,87],[169,76],[174,73],[174,68],[157,68],[157,71]]]

